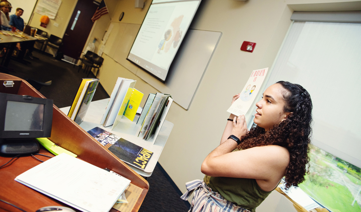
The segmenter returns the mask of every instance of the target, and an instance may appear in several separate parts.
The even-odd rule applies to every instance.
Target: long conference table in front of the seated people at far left
[[[8,67],[11,56],[13,54],[13,51],[17,43],[34,41],[34,40],[38,40],[38,39],[35,37],[31,37],[30,35],[23,35],[22,32],[0,31],[0,44],[10,44],[10,47],[8,48],[8,50],[4,55],[2,65],[4,67]],[[22,54],[21,58],[19,59],[22,59],[23,56],[24,54]]]

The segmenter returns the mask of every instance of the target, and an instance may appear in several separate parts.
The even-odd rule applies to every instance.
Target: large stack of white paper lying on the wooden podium
[[[130,184],[124,177],[65,153],[15,180],[84,212],[108,212]]]

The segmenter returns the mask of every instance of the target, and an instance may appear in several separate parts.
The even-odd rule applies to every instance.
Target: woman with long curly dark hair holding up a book
[[[247,132],[244,115],[231,114],[221,144],[201,166],[204,180],[187,182],[182,199],[195,191],[190,211],[255,212],[283,177],[287,189],[305,180],[312,134],[309,93],[279,81],[256,106],[257,126]]]

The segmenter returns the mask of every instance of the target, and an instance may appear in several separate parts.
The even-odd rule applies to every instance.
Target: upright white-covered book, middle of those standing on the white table
[[[136,80],[118,77],[117,82],[114,85],[113,92],[110,94],[109,102],[105,108],[103,118],[101,119],[101,125],[104,127],[113,125],[117,115],[123,115],[135,83]]]

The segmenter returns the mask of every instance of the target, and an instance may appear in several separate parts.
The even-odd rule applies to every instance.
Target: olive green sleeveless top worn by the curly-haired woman
[[[255,179],[210,177],[205,175],[203,180],[212,191],[217,192],[237,206],[252,212],[255,212],[256,207],[272,192],[262,190]]]

